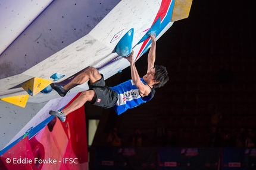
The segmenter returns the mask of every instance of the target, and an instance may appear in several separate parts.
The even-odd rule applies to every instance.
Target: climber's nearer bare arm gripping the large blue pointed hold
[[[145,97],[151,92],[151,89],[149,88],[148,85],[145,85],[141,82],[141,78],[139,76],[139,73],[138,73],[138,71],[136,69],[136,66],[135,66],[135,62],[133,60],[133,53],[134,52],[132,51],[130,56],[124,57],[124,58],[127,59],[130,62],[130,70],[131,70],[131,75],[132,75],[132,81],[138,87],[141,96]]]

